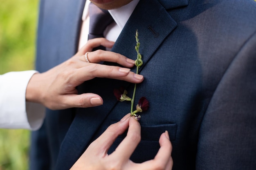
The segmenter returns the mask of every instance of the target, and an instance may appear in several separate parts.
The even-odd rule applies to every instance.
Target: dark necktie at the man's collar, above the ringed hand
[[[89,16],[88,40],[103,37],[103,32],[106,27],[114,21],[108,10],[100,9],[93,3],[89,4]]]

